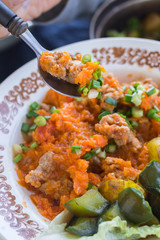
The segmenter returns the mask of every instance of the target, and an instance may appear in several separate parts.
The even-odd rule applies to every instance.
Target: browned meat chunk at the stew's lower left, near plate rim
[[[53,153],[45,153],[39,160],[39,165],[35,170],[29,172],[25,177],[26,183],[30,183],[35,188],[41,186],[42,181],[46,181],[55,170],[56,163],[53,160]]]

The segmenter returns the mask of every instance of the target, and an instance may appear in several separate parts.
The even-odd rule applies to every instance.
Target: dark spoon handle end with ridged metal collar
[[[15,37],[19,37],[28,29],[28,24],[16,15],[0,0],[0,24]]]

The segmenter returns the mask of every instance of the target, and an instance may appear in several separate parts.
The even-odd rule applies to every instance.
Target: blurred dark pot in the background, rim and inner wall
[[[144,19],[150,13],[160,14],[159,0],[111,0],[95,12],[90,25],[90,38],[106,37],[110,29],[122,31],[131,17]]]

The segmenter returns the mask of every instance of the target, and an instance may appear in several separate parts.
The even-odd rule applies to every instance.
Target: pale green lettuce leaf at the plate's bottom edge
[[[150,240],[160,239],[160,225],[128,227],[127,222],[120,217],[102,222],[98,232],[93,236],[79,237],[65,231],[71,218],[71,213],[63,211],[51,222],[48,229],[37,237],[37,240],[139,240],[146,237]]]

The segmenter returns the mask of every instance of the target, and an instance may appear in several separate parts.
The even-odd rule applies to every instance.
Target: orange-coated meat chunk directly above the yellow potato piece
[[[130,161],[124,161],[121,158],[107,157],[102,161],[104,178],[118,178],[135,180],[140,171],[133,168]]]

